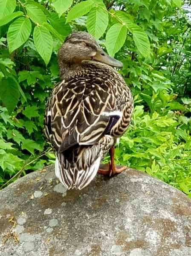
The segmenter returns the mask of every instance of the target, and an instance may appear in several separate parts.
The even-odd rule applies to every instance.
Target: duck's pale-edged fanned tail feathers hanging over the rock
[[[78,145],[57,153],[55,175],[67,189],[83,189],[96,176],[104,154],[115,144],[105,135],[94,145]]]

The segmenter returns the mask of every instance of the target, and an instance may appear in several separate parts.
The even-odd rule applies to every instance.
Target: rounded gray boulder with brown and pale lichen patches
[[[132,169],[66,191],[50,166],[0,191],[0,255],[191,256],[191,201]]]

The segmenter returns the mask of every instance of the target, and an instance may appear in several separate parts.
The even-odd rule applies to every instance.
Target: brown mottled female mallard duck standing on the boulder
[[[45,134],[55,150],[55,174],[68,189],[82,189],[96,173],[116,174],[114,145],[130,124],[133,99],[110,58],[86,32],[74,32],[58,53],[61,82],[52,90]],[[111,163],[99,169],[104,154]]]

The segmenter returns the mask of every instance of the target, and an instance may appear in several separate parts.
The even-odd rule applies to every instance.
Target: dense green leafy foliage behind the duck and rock
[[[186,2],[186,1],[185,1]],[[116,162],[191,198],[191,21],[181,0],[0,0],[0,185],[54,162],[45,143],[57,52],[85,30],[115,58],[132,90],[132,124]],[[108,157],[104,161],[107,161]]]

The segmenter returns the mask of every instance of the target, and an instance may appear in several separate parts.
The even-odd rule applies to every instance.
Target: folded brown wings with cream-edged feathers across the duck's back
[[[76,144],[93,145],[111,134],[125,108],[130,108],[130,92],[122,79],[74,77],[52,92],[45,131],[58,152]]]

